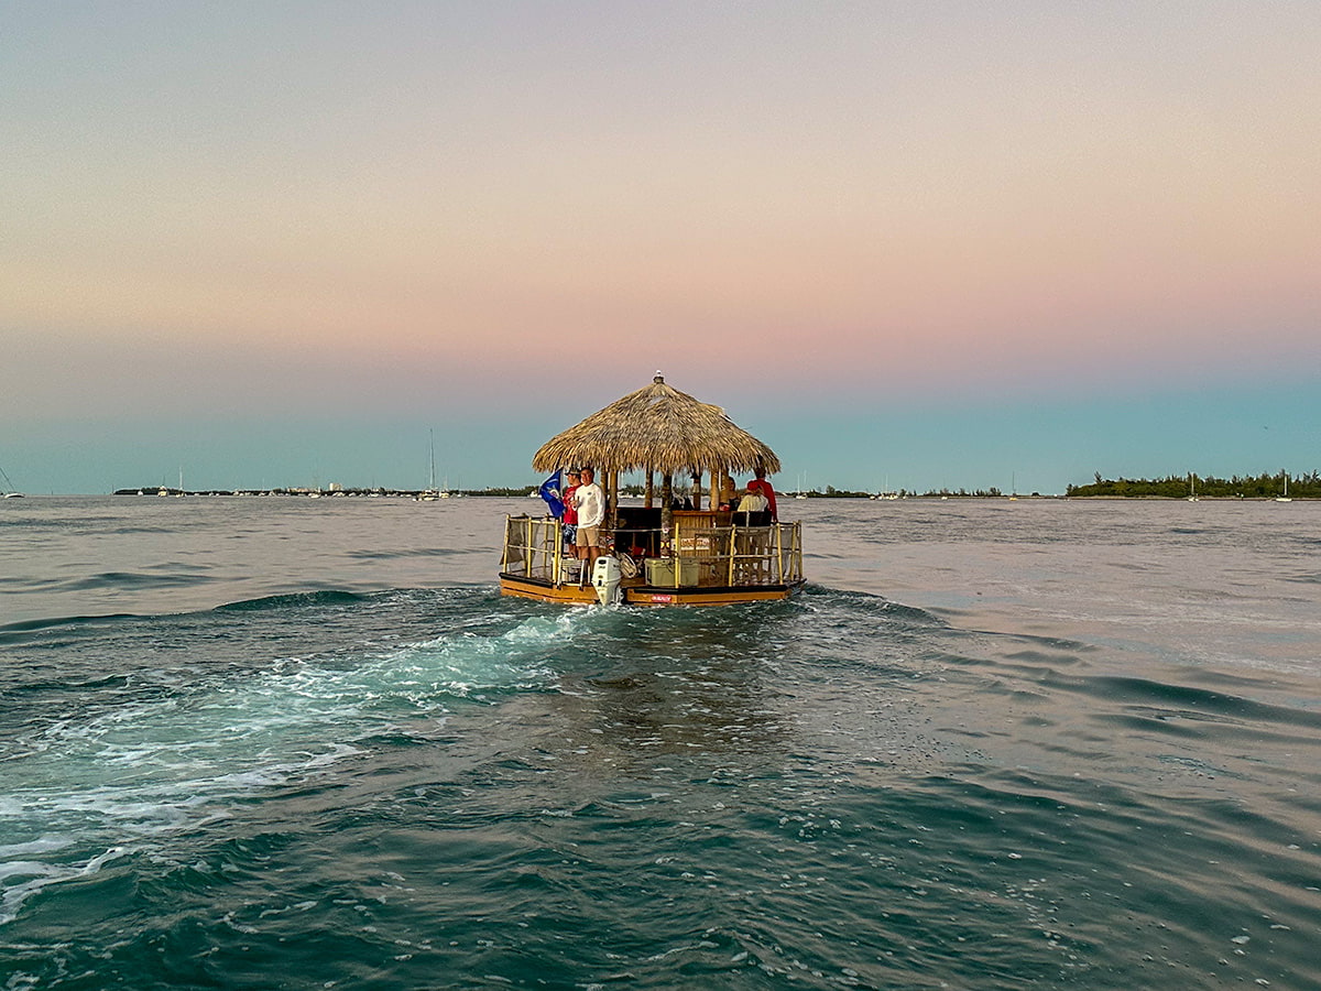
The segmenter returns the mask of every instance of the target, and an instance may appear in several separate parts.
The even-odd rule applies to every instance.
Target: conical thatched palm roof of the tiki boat
[[[592,465],[597,472],[635,468],[678,474],[690,469],[779,470],[775,452],[734,425],[725,411],[667,386],[650,386],[610,403],[551,437],[532,459],[538,472]]]

